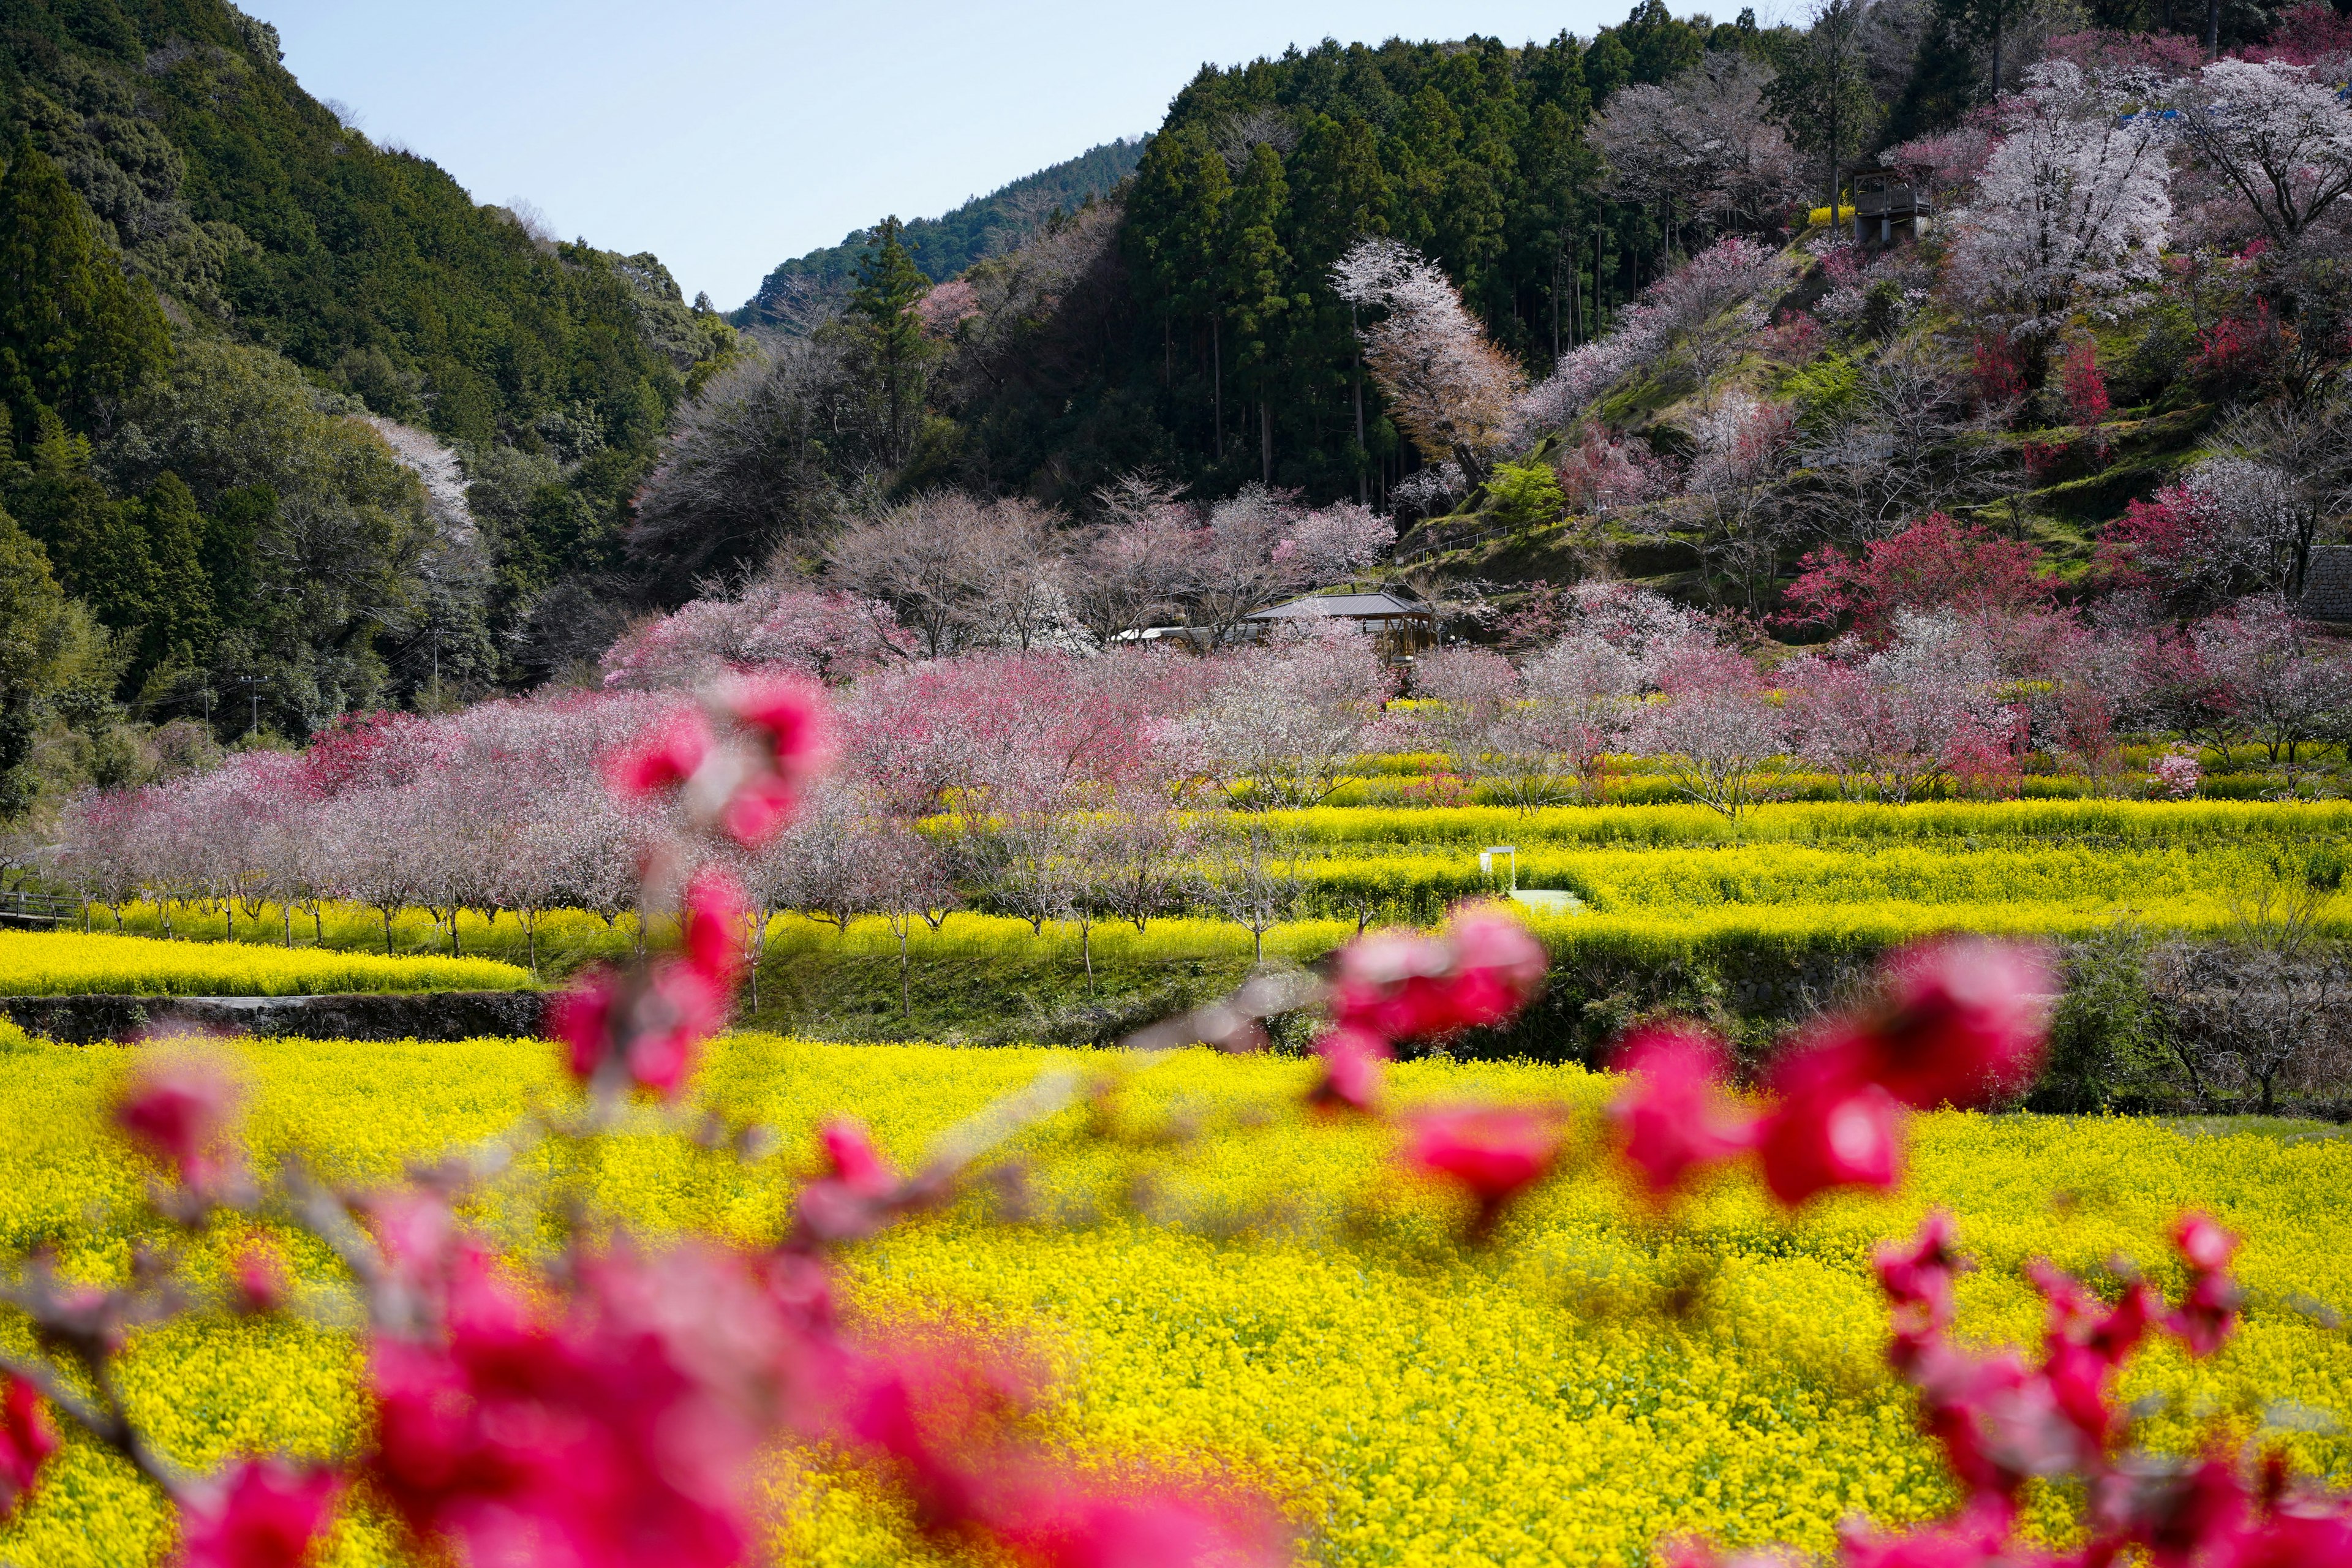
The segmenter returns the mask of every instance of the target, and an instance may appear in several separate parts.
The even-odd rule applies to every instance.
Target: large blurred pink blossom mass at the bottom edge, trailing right
[[[750,1552],[755,1460],[800,1439],[887,1465],[927,1530],[1023,1563],[1282,1559],[1272,1514],[1150,1476],[1082,1479],[1021,1443],[1028,1380],[978,1349],[842,1333],[823,1246],[931,1190],[844,1124],[823,1147],[830,1173],[802,1190],[786,1246],[593,1251],[553,1300],[459,1239],[445,1208],[386,1215],[393,1267],[437,1326],[376,1335],[367,1479],[470,1563],[727,1568]]]

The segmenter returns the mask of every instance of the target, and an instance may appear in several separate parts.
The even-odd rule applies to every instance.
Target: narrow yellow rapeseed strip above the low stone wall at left
[[[327,992],[517,990],[496,959],[388,959],[320,947],[158,943],[80,931],[0,931],[0,997],[310,997]]]

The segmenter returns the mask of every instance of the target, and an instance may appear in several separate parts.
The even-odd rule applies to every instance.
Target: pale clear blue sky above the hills
[[[687,299],[734,308],[786,256],[884,214],[936,216],[1155,129],[1202,61],[1322,38],[1590,38],[1630,0],[242,5],[379,143],[477,202],[534,202],[564,237],[652,249]]]

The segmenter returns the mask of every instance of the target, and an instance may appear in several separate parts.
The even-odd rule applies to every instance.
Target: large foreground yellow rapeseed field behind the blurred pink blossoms
[[[569,1093],[534,1044],[238,1053],[256,1157],[301,1147],[358,1180]],[[120,1276],[136,1241],[160,1239],[132,1222],[148,1173],[94,1135],[125,1065],[118,1048],[0,1044],[0,1255],[47,1244],[71,1272]],[[1287,1107],[1308,1063],[1181,1053],[1134,1072],[1115,1056],[741,1034],[715,1046],[701,1084],[774,1126],[781,1154],[734,1166],[647,1128],[602,1157],[595,1199],[654,1232],[774,1239],[821,1117],[854,1112],[913,1159],[1054,1065],[1115,1086],[1025,1138],[1035,1215],[1004,1225],[974,1199],[906,1225],[854,1255],[854,1312],[1018,1335],[1056,1375],[1040,1415],[1049,1441],[1268,1488],[1298,1523],[1303,1561],[1635,1566],[1684,1530],[1818,1549],[1856,1512],[1938,1514],[1950,1488],[1879,1366],[1886,1326],[1865,1272],[1870,1248],[1931,1204],[1959,1215],[1985,1265],[1964,1281],[1962,1324],[1987,1340],[2037,1333],[2030,1258],[2133,1258],[2166,1276],[2164,1225],[2213,1211],[2249,1237],[2249,1324],[2209,1363],[2152,1354],[2126,1396],[2154,1399],[2159,1446],[2270,1418],[2303,1467],[2352,1479],[2352,1439],[2331,1427],[2352,1418],[2352,1347],[2300,1307],[2352,1307],[2352,1143],[2333,1135],[1936,1114],[1915,1121],[1900,1197],[1783,1222],[1726,1180],[1661,1222],[1602,1178],[1564,1178],[1477,1251],[1444,1197],[1395,1175],[1388,1133],[1263,1114]],[[1592,1128],[1609,1084],[1576,1067],[1416,1063],[1395,1091],[1548,1098]],[[207,1237],[198,1260],[216,1267],[238,1244]],[[313,1251],[296,1258],[315,1272]],[[172,1453],[207,1465],[365,1443],[353,1342],[329,1293],[308,1300],[320,1326],[212,1314],[134,1347],[132,1396]],[[24,1349],[21,1324],[0,1321],[0,1342]],[[2063,1500],[2042,1507],[2063,1528]],[[788,1561],[931,1559],[870,1476],[821,1453],[776,1458],[771,1530]],[[16,1568],[153,1563],[167,1549],[162,1509],[85,1446],[0,1528],[0,1561]],[[327,1561],[397,1554],[358,1509]]]

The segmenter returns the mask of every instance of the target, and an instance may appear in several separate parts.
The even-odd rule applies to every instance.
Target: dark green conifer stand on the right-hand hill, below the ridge
[[[1804,85],[1820,75],[1811,33],[1759,28],[1750,12],[1675,16],[1661,0],[1588,40],[1322,42],[1204,68],[1115,200],[924,301],[931,423],[880,442],[833,428],[823,454],[804,435],[833,421],[818,409],[866,404],[854,362],[875,294],[849,306],[837,350],[790,350],[757,400],[713,409],[760,449],[750,468],[795,473],[807,501],[771,496],[755,517],[729,517],[696,569],[760,557],[877,477],[887,494],[964,482],[1073,508],[1148,465],[1202,496],[1268,482],[1383,501],[1421,458],[1367,388],[1359,313],[1329,280],[1341,252],[1369,233],[1435,256],[1496,343],[1541,376],[1675,259],[1719,233],[1783,226],[1799,181],[1820,183],[1797,160],[1823,146],[1853,158],[1865,139],[1947,125],[1987,96],[1990,21],[1971,31],[1926,0],[1844,0],[1839,16],[1823,92]],[[2011,19],[2004,49],[2020,56],[2046,26]],[[1776,78],[1788,87],[1766,103]],[[1733,158],[1778,160],[1731,200],[1708,169],[1686,172],[1689,190],[1646,186],[1592,136],[1616,94],[1679,82],[1689,96],[1698,80],[1719,122],[1708,136]],[[917,280],[936,275],[913,226],[901,244]],[[696,491],[684,510],[743,512],[739,487],[710,494],[703,423],[689,421],[682,449]],[[677,501],[656,496],[647,555],[680,536]]]

